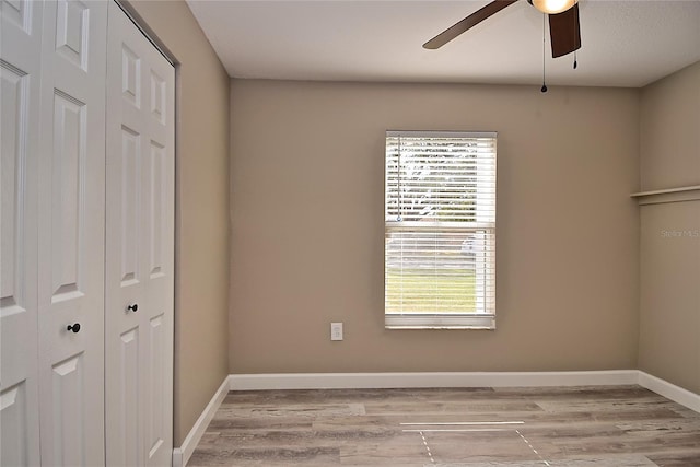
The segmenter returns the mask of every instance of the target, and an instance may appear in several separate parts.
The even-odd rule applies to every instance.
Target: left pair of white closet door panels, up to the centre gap
[[[2,465],[101,464],[107,5],[0,8]]]

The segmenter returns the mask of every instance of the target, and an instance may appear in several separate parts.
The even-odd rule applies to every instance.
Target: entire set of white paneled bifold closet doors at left
[[[0,15],[0,465],[171,465],[174,68],[114,1]]]

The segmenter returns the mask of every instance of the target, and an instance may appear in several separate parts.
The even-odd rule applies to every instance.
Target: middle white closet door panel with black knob
[[[44,4],[37,291],[43,465],[104,464],[106,25],[104,1]]]

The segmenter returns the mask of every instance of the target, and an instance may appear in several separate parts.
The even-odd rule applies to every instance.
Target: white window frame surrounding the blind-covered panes
[[[492,184],[492,200],[490,200],[487,205],[493,210],[492,212],[492,222],[465,222],[464,224],[455,222],[410,222],[401,219],[400,208],[399,215],[396,221],[392,221],[388,219],[389,211],[389,139],[396,138],[448,138],[448,139],[483,139],[490,138],[492,139],[492,161],[489,163],[489,166],[492,167],[492,179],[488,182]],[[387,329],[495,329],[495,232],[497,232],[497,168],[498,168],[498,133],[495,131],[489,132],[475,132],[475,131],[398,131],[398,130],[389,130],[386,131],[385,138],[385,189],[384,189],[384,235],[385,235],[385,246],[384,246],[384,319],[385,319],[385,328]],[[400,141],[398,152],[400,154]],[[394,155],[396,157],[396,155]],[[398,162],[395,164],[397,168],[394,171],[393,175],[400,174],[400,155],[398,155]],[[488,171],[486,168],[480,168],[477,163],[477,174],[479,174],[479,170],[483,173]],[[399,175],[400,179],[400,175]],[[399,182],[400,183],[400,182]],[[400,186],[397,188],[399,194],[400,203]],[[477,207],[479,203],[477,203]],[[396,209],[396,208],[394,208]],[[395,211],[396,212],[396,211]],[[478,214],[479,211],[475,215]],[[441,225],[443,224],[443,225]],[[450,224],[450,225],[447,225]],[[452,232],[469,232],[471,234],[482,233],[483,234],[483,248],[482,254],[479,259],[476,260],[475,268],[477,272],[475,272],[475,281],[478,284],[481,281],[481,291],[483,292],[481,296],[481,302],[477,303],[476,311],[472,313],[457,313],[457,312],[431,312],[431,313],[421,313],[421,312],[387,312],[387,271],[388,271],[388,242],[390,234],[395,234],[401,232],[401,230],[424,230],[425,232],[431,232],[435,235],[440,233],[452,233]],[[477,255],[479,256],[479,255]],[[481,266],[479,266],[479,264]],[[481,269],[479,269],[481,268]],[[479,277],[479,271],[481,276]],[[475,300],[477,299],[477,285],[475,285]]]

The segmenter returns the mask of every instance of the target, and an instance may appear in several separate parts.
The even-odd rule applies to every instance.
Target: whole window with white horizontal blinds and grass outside
[[[495,327],[495,140],[387,131],[387,328]]]

